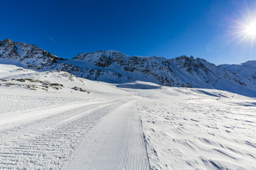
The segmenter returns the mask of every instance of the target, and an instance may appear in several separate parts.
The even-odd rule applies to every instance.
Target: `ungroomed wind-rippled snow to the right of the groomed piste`
[[[138,106],[153,169],[256,168],[255,99],[205,89],[161,91]]]

